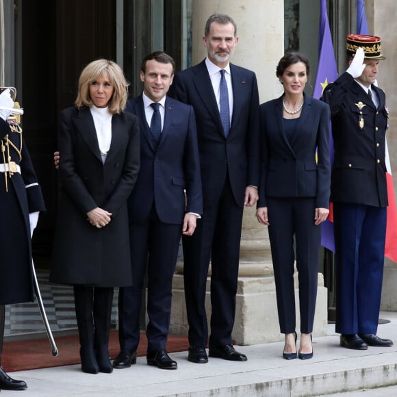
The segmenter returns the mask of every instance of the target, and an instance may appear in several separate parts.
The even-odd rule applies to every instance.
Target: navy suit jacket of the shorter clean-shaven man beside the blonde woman
[[[153,201],[164,223],[182,224],[185,212],[203,214],[199,149],[191,106],[166,97],[162,136],[157,148],[146,122],[142,94],[129,99],[127,112],[140,123],[140,172],[129,196],[129,221],[142,222]],[[187,207],[185,209],[186,190]]]

